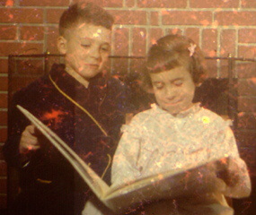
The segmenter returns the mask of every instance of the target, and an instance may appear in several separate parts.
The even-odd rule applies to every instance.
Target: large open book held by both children
[[[53,133],[49,127],[41,123],[39,119],[31,115],[23,107],[17,107],[49,139],[49,142],[63,154],[84,179],[84,182],[89,185],[93,193],[112,211],[123,211],[136,207],[143,202],[156,201],[163,198],[210,192],[211,189],[216,189],[216,186],[221,185],[210,187],[208,185],[213,182],[211,179],[215,180],[216,177],[208,176],[205,178],[201,175],[201,172],[207,169],[203,167],[218,162],[215,159],[209,160],[207,164],[193,164],[189,168],[166,171],[163,174],[137,179],[125,185],[109,186],[56,133]],[[224,157],[220,156],[219,159]]]

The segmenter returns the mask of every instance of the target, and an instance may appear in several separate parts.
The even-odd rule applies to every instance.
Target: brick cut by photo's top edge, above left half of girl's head
[[[184,8],[187,6],[187,0],[179,1],[170,1],[170,0],[157,0],[157,1],[148,1],[148,0],[137,0],[138,7],[160,7],[160,8]]]

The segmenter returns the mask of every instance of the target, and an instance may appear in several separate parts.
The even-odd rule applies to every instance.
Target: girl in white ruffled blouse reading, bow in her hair
[[[206,78],[199,47],[183,36],[165,36],[150,48],[146,67],[145,86],[153,90],[157,104],[123,126],[112,185],[225,157],[225,175],[216,177],[222,179],[224,189],[154,202],[138,214],[234,214],[225,195],[248,196],[250,179],[230,122],[192,101],[196,87]],[[207,168],[216,175],[216,167]]]

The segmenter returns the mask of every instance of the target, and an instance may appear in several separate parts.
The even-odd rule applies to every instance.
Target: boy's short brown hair
[[[79,23],[88,23],[102,26],[111,30],[114,23],[113,16],[102,7],[93,3],[79,2],[71,4],[59,20],[59,35],[65,36],[66,30],[74,28]]]

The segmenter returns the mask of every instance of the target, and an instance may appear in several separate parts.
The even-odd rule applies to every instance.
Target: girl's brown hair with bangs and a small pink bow
[[[146,57],[144,87],[146,89],[153,87],[150,73],[160,73],[178,66],[184,66],[190,72],[195,84],[206,79],[205,57],[192,39],[177,34],[158,39],[149,49]]]

